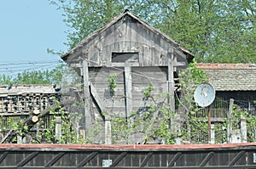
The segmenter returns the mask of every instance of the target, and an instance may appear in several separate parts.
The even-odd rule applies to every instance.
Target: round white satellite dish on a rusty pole
[[[215,89],[207,82],[199,84],[194,93],[195,103],[201,107],[207,107],[212,104],[215,99]]]

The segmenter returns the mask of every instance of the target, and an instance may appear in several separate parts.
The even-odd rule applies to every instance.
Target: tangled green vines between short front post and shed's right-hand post
[[[166,100],[168,94],[154,94],[153,84],[143,91],[145,102],[140,111],[132,111],[128,117],[112,115],[113,144],[173,144],[175,134],[170,130],[171,111]]]

